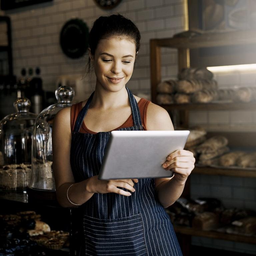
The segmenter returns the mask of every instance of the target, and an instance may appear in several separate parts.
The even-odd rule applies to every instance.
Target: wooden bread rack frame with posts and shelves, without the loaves
[[[204,33],[196,35],[194,37],[173,37],[164,39],[151,39],[150,40],[150,62],[151,62],[151,100],[157,104],[157,85],[161,80],[161,48],[174,48],[178,51],[178,71],[180,72],[183,68],[190,67],[190,49],[201,49],[209,47],[227,47],[227,46],[241,46],[248,47],[256,44],[256,33],[253,30],[245,31],[230,31],[223,33]],[[239,58],[236,59],[236,61]],[[213,66],[209,58],[207,66]],[[253,60],[248,61],[247,59],[239,59],[237,63],[232,62],[232,65],[238,64],[252,64]],[[207,59],[206,59],[207,62]],[[205,63],[204,63],[205,65]],[[222,64],[223,65],[223,64]],[[226,63],[225,63],[226,65]],[[221,65],[220,65],[221,66]],[[159,104],[158,104],[159,105]],[[183,128],[189,127],[189,111],[191,110],[256,110],[256,102],[249,103],[188,103],[188,104],[169,104],[160,105],[167,111],[176,111],[179,113],[178,125]],[[225,131],[209,131],[207,136],[211,137],[214,135],[226,136],[229,140],[230,146],[235,147],[255,147],[256,146],[256,129],[246,132],[225,132]],[[245,169],[226,169],[226,168],[212,168],[212,167],[195,167],[192,171],[197,174],[206,175],[224,175],[224,176],[235,176],[235,177],[256,177],[256,171],[245,170]],[[190,192],[189,179],[186,183],[183,196],[188,197]],[[218,233],[214,231],[203,231],[196,230],[189,227],[174,226],[177,236],[180,238],[180,245],[184,256],[190,255],[190,249],[188,244],[191,243],[191,236],[208,237],[215,239],[223,239],[236,242],[245,242],[256,244],[255,237],[248,237],[242,235],[231,235]]]

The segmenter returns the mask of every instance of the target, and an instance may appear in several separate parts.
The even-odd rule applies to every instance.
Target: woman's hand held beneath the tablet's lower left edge
[[[130,196],[131,193],[124,191],[120,188],[126,188],[131,192],[134,192],[134,183],[138,182],[138,179],[123,179],[123,180],[99,180],[98,175],[89,179],[86,189],[91,193],[116,193],[124,196]],[[119,187],[119,188],[118,188]]]

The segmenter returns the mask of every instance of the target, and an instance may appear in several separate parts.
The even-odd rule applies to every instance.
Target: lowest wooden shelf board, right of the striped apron
[[[243,236],[243,235],[233,235],[227,233],[221,233],[216,231],[204,231],[198,230],[190,227],[174,226],[176,233],[189,235],[189,236],[202,236],[208,238],[222,239],[228,241],[256,244],[256,236]]]

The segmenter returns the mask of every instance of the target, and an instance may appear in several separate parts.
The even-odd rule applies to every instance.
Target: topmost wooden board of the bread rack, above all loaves
[[[256,43],[255,30],[202,33],[194,37],[151,39],[157,46],[171,48],[201,48],[226,45],[249,45]]]

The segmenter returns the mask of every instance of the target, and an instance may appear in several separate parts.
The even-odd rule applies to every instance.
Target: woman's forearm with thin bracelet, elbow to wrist
[[[70,185],[72,185],[73,183],[62,184],[56,190],[57,200],[59,204],[62,207],[76,207],[76,205],[73,205],[68,201],[68,198],[71,202],[75,204],[84,204],[85,202],[87,202],[94,194],[93,192],[88,191],[88,182],[89,179],[86,179],[84,181],[74,183],[72,187],[70,187]],[[68,190],[69,187],[70,189]]]

